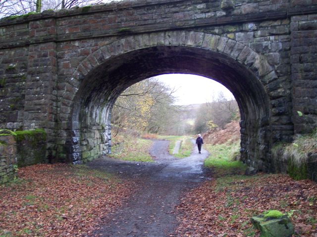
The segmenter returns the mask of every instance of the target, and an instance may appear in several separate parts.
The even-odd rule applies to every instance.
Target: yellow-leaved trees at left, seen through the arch
[[[179,108],[173,90],[155,78],[132,85],[116,100],[111,115],[113,136],[122,129],[139,133],[168,133],[177,127]]]

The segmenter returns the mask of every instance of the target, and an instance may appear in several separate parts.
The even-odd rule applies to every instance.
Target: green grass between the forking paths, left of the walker
[[[190,156],[193,150],[193,143],[190,141],[188,136],[158,136],[160,140],[168,140],[169,142],[169,154],[174,155],[177,158],[184,158]],[[173,154],[173,150],[177,141],[181,141],[178,154]]]

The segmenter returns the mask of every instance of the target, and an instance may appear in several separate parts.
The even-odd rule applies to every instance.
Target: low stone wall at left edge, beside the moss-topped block
[[[14,137],[0,136],[0,185],[16,177],[17,152]]]

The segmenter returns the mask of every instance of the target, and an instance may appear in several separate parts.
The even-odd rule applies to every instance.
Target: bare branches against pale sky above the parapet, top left
[[[0,0],[0,18],[43,10],[94,5],[108,0]]]

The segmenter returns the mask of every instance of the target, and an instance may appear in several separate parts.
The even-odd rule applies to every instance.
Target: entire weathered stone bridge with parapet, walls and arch
[[[274,171],[273,143],[317,126],[316,39],[316,0],[137,0],[2,19],[0,128],[44,128],[49,157],[85,162],[110,151],[123,90],[190,73],[232,92],[242,159]]]

